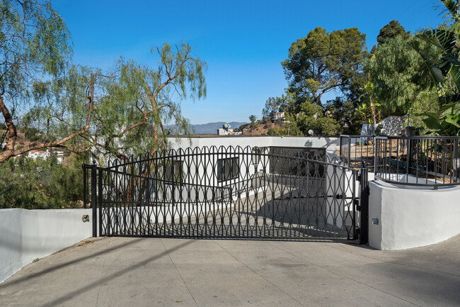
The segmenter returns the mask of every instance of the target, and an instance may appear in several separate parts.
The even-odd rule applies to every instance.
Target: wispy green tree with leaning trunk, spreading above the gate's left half
[[[0,162],[45,147],[125,158],[166,147],[170,122],[176,124],[176,135],[188,133],[180,101],[206,95],[206,64],[192,57],[185,43],[175,48],[166,43],[151,52],[159,56],[156,69],[122,58],[105,75],[73,66],[64,77],[35,82],[34,104],[23,119],[37,128],[44,123],[45,140],[6,148]]]

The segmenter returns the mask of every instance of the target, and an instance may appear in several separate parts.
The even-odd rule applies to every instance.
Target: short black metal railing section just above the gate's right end
[[[347,167],[366,167],[374,171],[374,135],[340,135],[340,161]]]

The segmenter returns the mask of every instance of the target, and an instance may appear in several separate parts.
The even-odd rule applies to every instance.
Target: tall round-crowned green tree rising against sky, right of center
[[[292,43],[286,60],[282,62],[289,81],[289,91],[311,99],[322,106],[321,96],[340,89],[347,93],[362,77],[362,65],[367,55],[366,35],[357,28],[311,30],[305,38]]]

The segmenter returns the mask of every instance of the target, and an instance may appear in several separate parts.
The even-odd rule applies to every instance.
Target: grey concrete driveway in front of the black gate
[[[460,306],[460,235],[343,242],[97,238],[24,267],[0,306]]]

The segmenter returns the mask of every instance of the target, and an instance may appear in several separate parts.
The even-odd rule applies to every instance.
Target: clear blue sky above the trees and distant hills
[[[442,23],[438,0],[52,0],[72,33],[74,62],[108,69],[123,55],[156,67],[152,46],[184,40],[207,62],[207,98],[183,101],[192,124],[258,118],[287,81],[280,62],[294,40],[321,26],[357,27],[369,50],[392,19],[415,32]],[[327,98],[327,97],[326,97]]]

